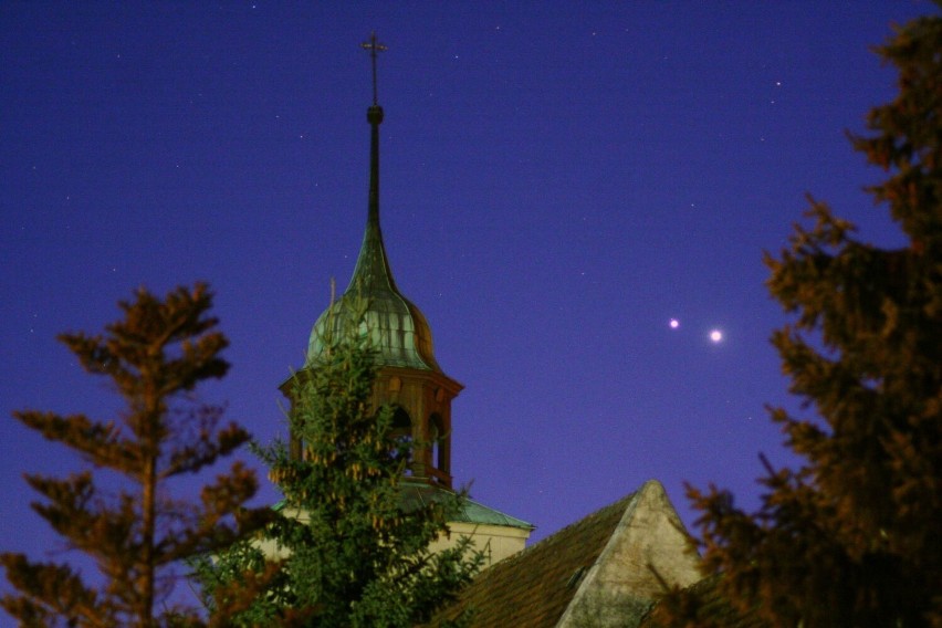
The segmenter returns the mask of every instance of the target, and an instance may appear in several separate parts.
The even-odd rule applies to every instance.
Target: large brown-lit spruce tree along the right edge
[[[796,315],[773,344],[817,415],[772,418],[806,462],[763,460],[754,513],[715,486],[690,491],[716,589],[770,626],[942,626],[942,19],[878,51],[899,95],[851,140],[889,175],[869,191],[908,244],[864,242],[810,201],[810,227],[766,257],[771,293]],[[689,601],[670,600],[676,625],[710,625]]]

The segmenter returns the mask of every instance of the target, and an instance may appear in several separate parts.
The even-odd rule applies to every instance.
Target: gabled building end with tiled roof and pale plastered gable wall
[[[485,569],[431,625],[470,610],[472,628],[637,627],[664,582],[700,578],[699,562],[663,486],[650,481]]]

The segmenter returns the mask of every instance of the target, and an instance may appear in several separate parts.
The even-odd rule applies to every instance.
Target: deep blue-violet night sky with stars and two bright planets
[[[794,462],[764,406],[798,406],[763,251],[806,192],[901,242],[846,132],[896,91],[870,46],[938,9],[343,7],[0,4],[0,548],[57,547],[21,474],[78,468],[10,412],[113,418],[55,335],[137,286],[208,281],[232,368],[203,398],[285,435],[276,387],[363,237],[374,30],[386,249],[465,386],[457,481],[533,538],[651,478],[688,524],[684,481],[755,505],[757,454]]]

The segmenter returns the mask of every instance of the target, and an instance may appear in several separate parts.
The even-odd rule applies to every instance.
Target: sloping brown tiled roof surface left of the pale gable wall
[[[472,627],[555,626],[635,495],[485,569],[439,619],[454,618],[471,608]]]

